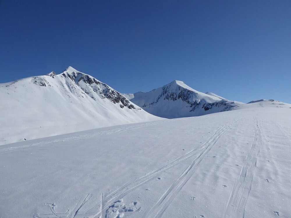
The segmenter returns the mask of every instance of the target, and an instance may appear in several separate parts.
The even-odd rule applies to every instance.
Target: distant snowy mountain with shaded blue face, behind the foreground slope
[[[177,80],[150,92],[123,95],[145,111],[165,118],[200,116],[231,110],[242,104],[211,92],[198,92]]]

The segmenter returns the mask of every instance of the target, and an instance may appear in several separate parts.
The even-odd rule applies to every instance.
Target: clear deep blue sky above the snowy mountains
[[[123,93],[291,103],[290,0],[1,0],[0,27],[0,83],[72,66]]]

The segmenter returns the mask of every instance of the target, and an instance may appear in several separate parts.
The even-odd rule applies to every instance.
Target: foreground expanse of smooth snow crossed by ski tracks
[[[288,106],[2,145],[0,217],[290,218]]]

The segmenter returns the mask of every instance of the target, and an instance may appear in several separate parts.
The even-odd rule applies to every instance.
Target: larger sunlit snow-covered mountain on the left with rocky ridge
[[[161,119],[72,67],[0,84],[0,102],[0,144]]]

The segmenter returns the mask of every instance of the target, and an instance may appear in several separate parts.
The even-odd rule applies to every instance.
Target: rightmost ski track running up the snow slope
[[[260,153],[260,147],[262,145],[261,131],[256,119],[254,131],[255,135],[251,149],[247,154],[244,166],[242,167],[240,174],[234,183],[222,218],[244,218],[244,208],[251,191],[253,171],[256,167],[257,156]]]

